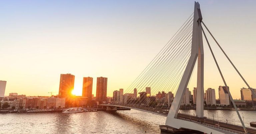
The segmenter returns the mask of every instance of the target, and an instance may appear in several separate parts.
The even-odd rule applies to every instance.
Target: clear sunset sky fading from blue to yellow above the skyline
[[[256,88],[256,1],[199,1],[203,21]],[[194,1],[1,1],[0,80],[5,95],[58,94],[60,74],[108,77],[107,96],[127,88],[194,11]],[[208,36],[209,37],[209,36]],[[210,40],[233,98],[246,87]],[[224,85],[204,41],[204,88]],[[196,86],[193,75],[189,89]]]

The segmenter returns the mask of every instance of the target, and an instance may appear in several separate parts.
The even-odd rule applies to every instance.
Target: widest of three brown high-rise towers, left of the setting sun
[[[69,98],[74,89],[75,75],[70,73],[60,74],[59,97]]]

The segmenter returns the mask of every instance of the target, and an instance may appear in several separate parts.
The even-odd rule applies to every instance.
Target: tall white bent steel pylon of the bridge
[[[195,67],[196,60],[198,60],[197,67],[197,100],[196,100],[196,116],[204,117],[204,50],[203,50],[203,37],[202,37],[202,28],[200,26],[202,20],[200,4],[195,2],[194,8],[194,20],[193,20],[193,32],[192,32],[192,47],[191,55],[184,71],[184,74],[181,78],[177,93],[172,102],[171,108],[167,115],[165,125],[180,129],[187,128],[198,130],[204,133],[227,133],[220,129],[215,129],[212,127],[207,127],[198,123],[193,123],[189,121],[184,121],[177,119],[178,111],[180,109],[185,90],[188,86],[189,79],[191,77],[193,68]]]

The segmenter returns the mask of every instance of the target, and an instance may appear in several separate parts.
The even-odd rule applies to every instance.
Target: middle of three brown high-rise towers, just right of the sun
[[[84,77],[83,78],[83,90],[82,96],[88,97],[88,100],[92,100],[92,77]]]

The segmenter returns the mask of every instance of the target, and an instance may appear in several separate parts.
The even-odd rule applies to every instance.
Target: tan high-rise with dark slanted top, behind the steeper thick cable
[[[226,86],[219,86],[219,99],[221,105],[230,105],[228,91],[229,87],[227,89]]]

